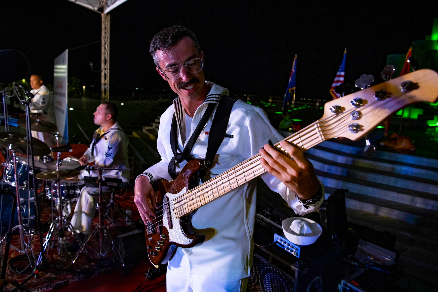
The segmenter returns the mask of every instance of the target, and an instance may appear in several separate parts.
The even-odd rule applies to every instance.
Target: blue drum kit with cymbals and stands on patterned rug
[[[57,131],[57,125],[39,118],[32,117],[30,122],[26,121],[26,118],[18,120],[18,125],[29,130],[30,124],[30,129],[37,132],[52,133]],[[59,133],[53,135],[59,146]],[[78,199],[81,187],[84,185],[83,181],[67,180],[67,178],[77,176],[81,165],[74,157],[60,160],[61,151],[57,149],[61,147],[49,148],[46,143],[33,137],[29,139],[28,136],[19,132],[0,133],[0,146],[7,150],[6,160],[2,164],[4,167],[1,178],[2,189],[11,189],[12,191],[15,189],[17,202],[15,214],[18,217],[18,225],[11,228],[11,231],[0,242],[10,240],[8,234],[12,234],[18,229],[20,246],[16,247],[10,244],[11,248],[20,254],[25,254],[31,261],[35,261],[31,245],[35,230],[32,228],[31,220],[39,220],[38,192],[44,193],[46,198],[56,205],[57,216],[50,224],[44,242],[42,242],[40,234],[42,248],[36,263],[38,265],[38,261],[43,260],[44,253],[49,247],[53,247],[54,241],[58,242],[58,257],[61,260],[67,260],[68,253],[64,231],[70,228],[71,224],[67,219],[69,213],[66,210],[71,212],[71,203]],[[54,152],[57,152],[56,160],[49,156],[50,153]],[[44,163],[46,159],[35,159],[37,157],[49,159],[48,162]],[[33,208],[30,206],[35,206],[34,216],[32,216]],[[38,227],[37,230],[41,230],[41,228]],[[33,264],[31,266],[33,267]]]

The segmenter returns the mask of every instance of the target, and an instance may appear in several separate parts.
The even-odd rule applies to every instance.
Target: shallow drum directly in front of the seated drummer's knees
[[[82,187],[85,185],[84,181],[71,181],[61,179],[58,181],[47,182],[46,197],[51,200],[58,198],[58,183],[60,186],[61,197],[66,202],[76,202],[81,193]]]

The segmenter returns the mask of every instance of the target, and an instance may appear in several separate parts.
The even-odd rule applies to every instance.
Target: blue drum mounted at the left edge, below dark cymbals
[[[15,171],[14,171],[14,160],[13,159],[5,165],[5,171],[4,171],[4,176],[2,178],[2,181],[6,182],[7,184],[9,184],[11,186],[15,186],[15,184],[17,183],[18,186],[21,189],[23,189],[23,188],[27,188],[29,186],[28,180],[30,180],[30,186],[32,188],[34,171],[29,171],[29,165],[27,163],[27,158],[26,157],[23,157],[23,158],[15,157],[15,162],[17,165],[17,182],[15,182],[15,178],[14,178]],[[30,158],[29,158],[29,163],[32,163]],[[47,169],[47,167],[44,164],[42,164],[41,162],[39,162],[38,160],[34,160],[34,165],[35,165],[35,170],[36,170],[35,173],[39,173],[39,172]]]

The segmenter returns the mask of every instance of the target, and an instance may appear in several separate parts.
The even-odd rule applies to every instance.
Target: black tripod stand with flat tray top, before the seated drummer
[[[88,182],[91,182],[94,186],[99,186],[99,199],[98,199],[98,203],[97,203],[97,210],[99,212],[99,224],[96,225],[92,231],[88,231],[87,236],[85,237],[84,242],[82,243],[82,246],[79,248],[78,253],[76,253],[76,256],[74,257],[74,259],[71,261],[71,266],[74,266],[74,263],[76,262],[76,260],[79,257],[79,254],[85,249],[85,246],[88,246],[90,248],[90,246],[88,245],[88,243],[91,241],[92,237],[94,234],[98,233],[99,234],[99,250],[93,250],[95,252],[95,254],[101,258],[106,256],[106,254],[110,251],[113,250],[114,255],[116,256],[116,258],[119,260],[120,264],[122,265],[122,267],[124,266],[124,262],[123,262],[123,258],[120,254],[120,251],[117,249],[117,246],[113,240],[113,238],[111,237],[111,235],[109,235],[109,232],[106,230],[106,225],[104,224],[104,210],[103,210],[103,199],[102,199],[102,188],[103,186],[108,186],[108,183],[105,182],[102,179],[102,172],[104,170],[120,170],[120,168],[103,168],[103,167],[94,167],[94,166],[87,166],[86,169],[88,171],[90,170],[97,170],[99,173],[99,177],[98,178],[93,178],[91,177],[90,179],[88,179]],[[123,169],[123,170],[130,170],[129,168]],[[97,185],[95,185],[97,179]],[[108,178],[106,178],[108,179]],[[85,181],[85,179],[84,179]],[[110,182],[110,180],[108,181],[110,185],[117,184],[117,182]],[[85,181],[86,185],[87,182]],[[109,242],[110,243],[110,249],[106,249],[105,244]]]

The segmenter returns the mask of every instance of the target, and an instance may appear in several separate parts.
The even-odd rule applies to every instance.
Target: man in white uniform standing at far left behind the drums
[[[30,109],[41,110],[42,114],[38,116],[39,119],[56,124],[53,94],[44,85],[41,75],[31,75],[30,86],[32,87],[30,92],[34,95]],[[32,137],[41,140],[49,147],[53,147],[54,136],[50,133],[32,131]]]

